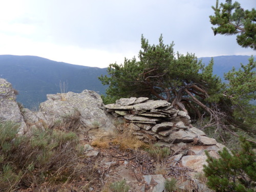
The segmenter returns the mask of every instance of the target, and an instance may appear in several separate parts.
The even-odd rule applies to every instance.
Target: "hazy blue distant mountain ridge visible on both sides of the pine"
[[[232,67],[246,65],[250,56],[217,56],[214,74],[223,77]],[[255,56],[254,56],[255,58]],[[201,57],[207,65],[211,57]],[[46,100],[47,94],[60,93],[59,82],[68,82],[67,91],[80,93],[88,89],[104,94],[98,76],[107,74],[106,68],[86,67],[57,62],[37,56],[0,55],[0,78],[7,79],[19,92],[17,101],[33,109]]]

